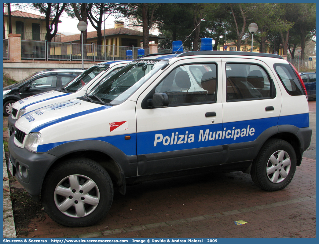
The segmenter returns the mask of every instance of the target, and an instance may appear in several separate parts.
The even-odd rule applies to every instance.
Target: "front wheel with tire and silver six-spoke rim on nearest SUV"
[[[106,170],[96,162],[71,159],[50,170],[41,199],[48,215],[61,225],[94,225],[112,205],[113,184]]]

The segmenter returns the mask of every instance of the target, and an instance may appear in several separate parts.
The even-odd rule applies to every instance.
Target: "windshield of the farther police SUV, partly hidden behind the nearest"
[[[66,84],[61,91],[74,93],[81,89],[86,83],[91,81],[100,72],[107,70],[110,67],[108,64],[97,64],[93,65],[91,68],[85,70],[82,74],[72,80],[70,83]]]

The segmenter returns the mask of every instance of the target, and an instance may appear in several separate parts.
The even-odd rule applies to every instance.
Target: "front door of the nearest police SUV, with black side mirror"
[[[174,63],[139,96],[138,175],[220,163],[222,85],[216,82],[221,77],[220,58],[201,61]],[[143,107],[154,93],[166,93],[168,106]]]

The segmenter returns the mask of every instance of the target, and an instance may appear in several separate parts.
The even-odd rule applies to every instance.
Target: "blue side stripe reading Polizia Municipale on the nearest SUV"
[[[81,115],[83,114],[77,113],[74,114],[72,118]],[[67,117],[64,117],[65,119],[63,120],[70,119]],[[283,116],[282,118],[271,117],[220,123],[215,125],[183,127],[168,130],[140,132],[136,134],[132,133],[130,134],[131,140],[124,140],[124,134],[121,134],[78,139],[73,141],[105,141],[122,150],[126,155],[131,156],[255,141],[261,133],[271,126],[294,125],[302,128],[308,127],[307,120],[309,121],[309,115],[308,113],[305,113]],[[48,123],[42,125],[43,128],[47,126],[49,126]],[[37,128],[40,127],[41,126]],[[39,145],[37,152],[46,152],[67,142],[71,141]],[[135,143],[137,143],[137,145]]]

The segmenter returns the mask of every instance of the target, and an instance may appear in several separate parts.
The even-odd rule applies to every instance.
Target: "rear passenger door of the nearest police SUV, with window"
[[[274,74],[259,60],[222,58],[223,146],[227,162],[250,160],[254,141],[277,126],[282,97]]]

